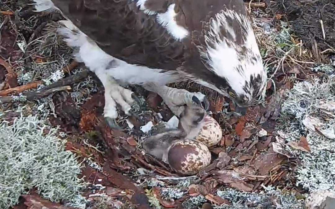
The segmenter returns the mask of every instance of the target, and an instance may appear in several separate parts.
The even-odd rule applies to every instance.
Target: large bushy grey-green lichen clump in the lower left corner
[[[80,164],[64,143],[57,128],[36,116],[0,122],[0,208],[14,206],[32,188],[53,202],[77,201],[84,186]]]

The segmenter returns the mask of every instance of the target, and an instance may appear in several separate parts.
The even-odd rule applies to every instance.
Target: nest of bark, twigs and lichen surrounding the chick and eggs
[[[3,194],[0,195],[1,208],[37,202],[44,206],[62,203],[99,209],[140,206],[301,208],[309,192],[332,190],[325,188],[321,177],[331,175],[335,178],[331,173],[334,166],[322,164],[330,161],[326,156],[333,144],[323,144],[326,148],[316,151],[316,146],[325,141],[326,136],[306,132],[306,124],[302,122],[306,115],[317,112],[314,108],[316,101],[334,96],[334,84],[329,76],[334,68],[330,58],[324,54],[315,56],[316,49],[308,49],[294,35],[291,26],[281,21],[281,15],[275,15],[277,20],[273,24],[262,9],[250,5],[247,8],[254,15],[255,36],[268,70],[266,98],[262,104],[249,107],[245,116],[236,117],[229,114],[233,108],[229,100],[216,92],[192,82],[172,84],[206,94],[213,117],[223,130],[220,144],[211,148],[212,164],[196,176],[179,177],[165,164],[143,154],[140,147],[140,142],[154,132],[144,133],[140,131],[141,127],[143,130],[150,123],[153,128],[159,128],[162,121],[173,116],[161,103],[161,98],[134,88],[134,92],[141,95],[143,104],[148,104],[146,111],[139,112],[141,121],[121,114],[118,122],[124,125],[124,131],[111,130],[102,116],[103,87],[84,66],[71,59],[72,49],[55,33],[55,22],[59,17],[24,12],[29,8],[26,2],[4,2],[0,28],[7,32],[2,31],[1,42],[7,44],[1,51],[4,59],[0,64],[4,68],[0,68],[0,102],[1,126],[6,133],[2,134],[2,141],[8,146],[8,142],[22,143],[28,136],[26,132],[14,132],[18,121],[25,121],[25,127],[20,126],[22,129],[31,124],[45,124],[45,127],[41,125],[43,128],[39,126],[35,132],[29,132],[33,137],[25,146],[26,150],[36,154],[31,155],[38,159],[36,163],[45,162],[40,168],[51,172],[42,172],[50,181],[37,182],[42,174],[33,169],[25,173],[24,167],[29,166],[24,164],[26,161],[1,161],[4,167],[11,166],[11,172],[17,171],[8,174],[11,178],[25,180],[10,187],[9,180],[1,178],[1,187],[5,185],[8,191],[15,190],[11,195],[0,191]],[[12,12],[5,14],[3,11]],[[11,39],[11,36],[17,38]],[[11,59],[10,51],[17,51]],[[314,103],[309,99],[308,105],[302,107],[305,94],[299,89],[300,84],[294,86],[293,83],[304,81],[309,85],[308,80],[313,77],[325,78],[327,82],[323,85],[330,86],[327,92],[325,87],[316,90]],[[327,128],[334,122],[327,113],[322,120]],[[129,127],[130,123],[133,127]],[[285,135],[289,131],[291,134]],[[62,146],[49,147],[48,141],[56,143],[58,138],[63,140]],[[45,142],[43,146],[36,146],[37,139]],[[0,146],[0,153],[9,150],[4,150],[6,146]],[[319,159],[320,164],[328,170],[317,171],[311,165],[316,155],[323,156]],[[5,157],[10,159],[10,156]],[[311,169],[314,174],[307,172]],[[81,174],[78,175],[79,171]],[[19,202],[21,194],[24,203]]]

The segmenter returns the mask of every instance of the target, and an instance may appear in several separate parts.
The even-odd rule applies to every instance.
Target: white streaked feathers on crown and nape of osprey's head
[[[235,34],[233,28],[229,26],[227,19],[238,20],[240,24],[243,24],[244,27],[247,28],[247,38],[244,46],[248,49],[248,53],[244,57],[241,57],[238,53],[239,51],[242,51],[242,46],[236,44],[237,34]],[[227,32],[233,37],[232,40],[220,39],[220,26],[227,29]],[[220,77],[226,78],[231,88],[235,90],[237,94],[246,95],[243,87],[246,81],[250,82],[251,75],[261,75],[264,80],[266,79],[262,61],[256,63],[256,65],[252,64],[250,61],[255,55],[259,57],[261,56],[254,31],[246,16],[240,15],[233,10],[221,11],[216,14],[215,18],[210,22],[209,35],[205,36],[205,41],[206,43],[214,42],[215,48],[212,48],[210,47],[210,44],[207,44],[205,51],[200,50],[201,56],[209,60],[208,64],[211,66],[213,72]],[[240,62],[239,59],[242,59],[242,61]],[[242,65],[244,70],[242,75],[235,70],[238,65]],[[247,95],[249,99],[251,95],[252,89],[251,94]]]

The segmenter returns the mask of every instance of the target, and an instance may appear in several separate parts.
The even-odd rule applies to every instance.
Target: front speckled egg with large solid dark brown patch
[[[192,139],[177,140],[172,143],[167,153],[170,167],[184,175],[194,175],[211,162],[208,147]]]

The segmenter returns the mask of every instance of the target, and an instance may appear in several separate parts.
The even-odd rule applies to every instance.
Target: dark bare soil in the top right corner
[[[294,34],[312,47],[313,38],[320,51],[335,48],[335,2],[333,0],[279,0],[270,3],[283,21],[289,21]],[[323,22],[324,34],[320,23]],[[333,51],[335,53],[335,51]]]

